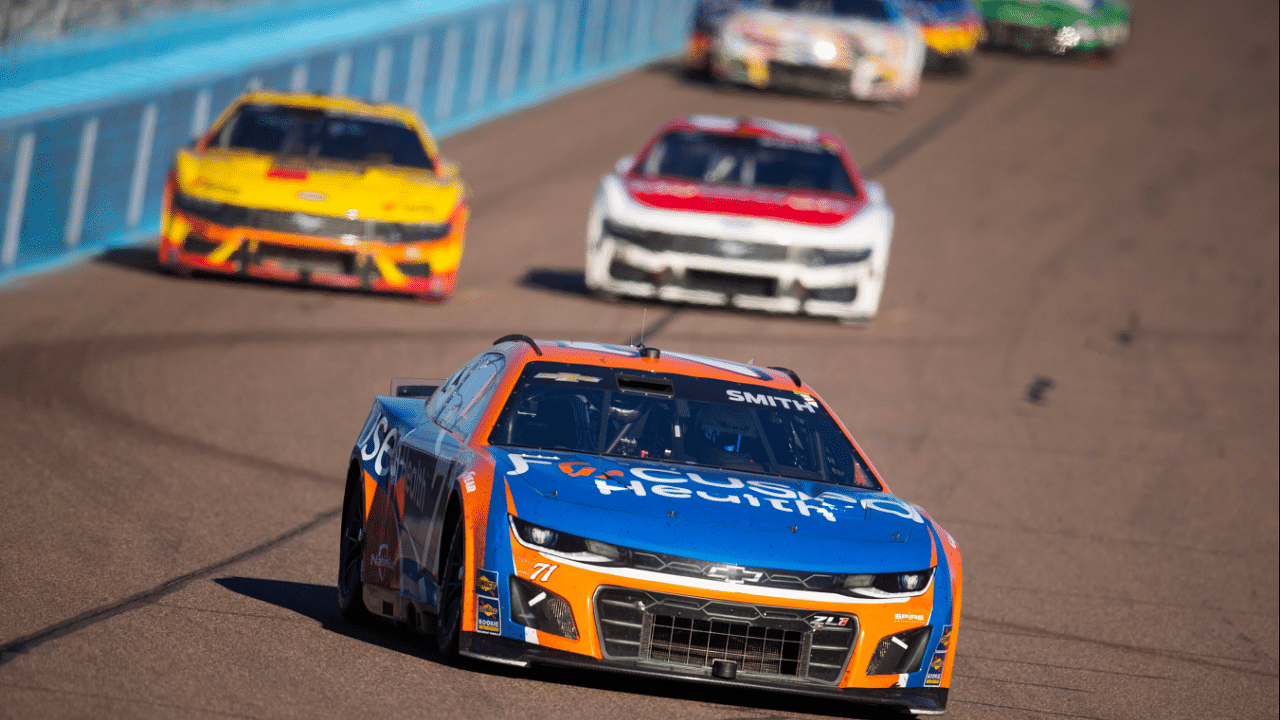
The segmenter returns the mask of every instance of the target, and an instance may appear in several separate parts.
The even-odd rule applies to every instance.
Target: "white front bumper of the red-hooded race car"
[[[588,283],[603,292],[667,302],[722,305],[769,313],[869,319],[879,307],[883,270],[858,263],[806,266],[791,258],[732,259],[650,251],[603,237],[588,261]]]

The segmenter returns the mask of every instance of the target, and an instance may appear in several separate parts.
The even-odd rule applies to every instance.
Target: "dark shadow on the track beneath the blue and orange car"
[[[244,597],[269,602],[278,607],[297,612],[298,615],[311,618],[312,620],[320,623],[321,628],[340,635],[372,643],[387,650],[426,660],[429,662],[453,665],[467,671],[481,673],[493,678],[524,679],[605,692],[737,706],[751,711],[763,710],[782,715],[803,712],[805,715],[860,717],[864,720],[908,717],[908,715],[893,710],[886,710],[876,706],[852,705],[836,700],[796,697],[751,688],[719,688],[699,685],[695,683],[682,683],[678,680],[654,680],[648,678],[637,682],[636,678],[630,675],[594,670],[570,670],[563,667],[512,667],[472,660],[447,662],[435,651],[435,642],[429,634],[413,634],[407,632],[401,625],[393,625],[392,623],[384,621],[374,621],[369,626],[348,621],[338,612],[338,589],[333,585],[241,577],[218,578],[214,582]]]

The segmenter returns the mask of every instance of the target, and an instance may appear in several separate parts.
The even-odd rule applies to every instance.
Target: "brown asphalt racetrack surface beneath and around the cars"
[[[948,716],[1276,717],[1277,8],[1133,4],[1112,64],[982,55],[896,110],[655,65],[452,137],[475,213],[440,305],[150,249],[0,288],[0,717],[883,717],[451,666],[338,615],[346,460],[390,378],[641,323],[796,369],[956,537]],[[692,111],[849,141],[897,213],[879,318],[585,293],[599,177]]]

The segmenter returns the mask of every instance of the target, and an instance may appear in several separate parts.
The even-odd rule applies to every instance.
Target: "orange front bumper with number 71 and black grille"
[[[744,583],[671,557],[663,570],[602,566],[536,551],[502,530],[486,541],[485,556],[490,568],[474,570],[462,628],[460,650],[470,657],[916,714],[946,707],[955,647],[946,579],[945,587],[931,582],[915,594],[867,600],[804,589],[829,583],[822,573],[771,570]]]

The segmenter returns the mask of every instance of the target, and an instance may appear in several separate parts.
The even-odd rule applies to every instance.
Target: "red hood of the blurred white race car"
[[[623,186],[632,199],[650,208],[809,225],[840,224],[867,202],[859,197],[829,192],[736,187],[675,178],[625,178]]]

